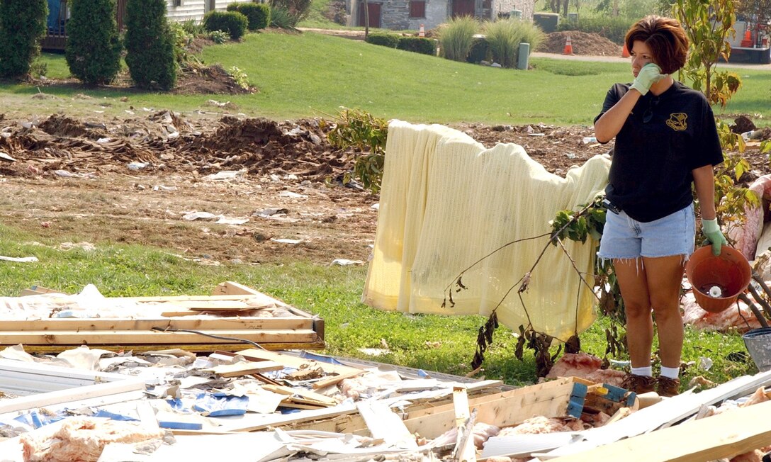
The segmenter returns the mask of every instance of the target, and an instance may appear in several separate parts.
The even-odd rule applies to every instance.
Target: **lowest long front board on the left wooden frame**
[[[252,342],[313,342],[316,332],[309,329],[275,329],[275,330],[227,330],[200,331],[215,336],[233,337],[233,343],[241,343],[237,339],[247,339]],[[104,345],[104,344],[166,344],[166,343],[222,343],[225,339],[214,339],[190,332],[153,332],[153,331],[57,331],[57,332],[2,332],[0,345]]]

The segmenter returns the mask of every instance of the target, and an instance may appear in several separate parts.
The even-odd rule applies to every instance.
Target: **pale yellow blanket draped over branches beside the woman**
[[[550,231],[557,211],[591,201],[608,182],[610,160],[595,156],[562,178],[517,144],[485,149],[446,126],[389,125],[375,248],[362,301],[377,309],[489,315],[517,329],[532,325],[567,340],[594,321],[594,295],[561,248],[548,246],[522,301],[517,281],[548,237],[510,245],[463,276],[460,271],[503,244]],[[596,241],[565,243],[590,283]],[[447,299],[451,286],[454,307]],[[510,288],[513,288],[508,293]]]

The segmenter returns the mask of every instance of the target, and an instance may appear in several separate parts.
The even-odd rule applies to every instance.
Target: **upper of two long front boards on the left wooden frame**
[[[200,316],[200,312],[194,312]],[[3,319],[0,322],[0,335],[3,331],[99,331],[99,330],[150,330],[160,329],[194,329],[194,330],[244,330],[244,329],[312,329],[313,322],[304,318],[258,318],[258,317],[227,317],[227,318],[186,318],[186,319],[119,319],[119,318],[89,318],[89,319]]]

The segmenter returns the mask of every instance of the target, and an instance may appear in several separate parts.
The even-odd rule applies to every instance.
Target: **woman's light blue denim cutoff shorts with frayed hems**
[[[643,223],[624,211],[608,210],[599,258],[670,257],[693,253],[696,234],[693,204],[658,220]]]

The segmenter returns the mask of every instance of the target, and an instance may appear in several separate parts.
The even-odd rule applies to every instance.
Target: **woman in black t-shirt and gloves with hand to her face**
[[[670,76],[685,64],[688,51],[679,22],[647,16],[632,25],[625,42],[635,80],[612,86],[594,120],[599,142],[615,137],[598,255],[612,259],[624,298],[631,359],[625,388],[674,396],[683,339],[679,290],[695,238],[691,184],[702,232],[719,255],[726,238],[715,218],[712,166],[723,157],[707,99]],[[651,370],[654,318],[658,379]]]

